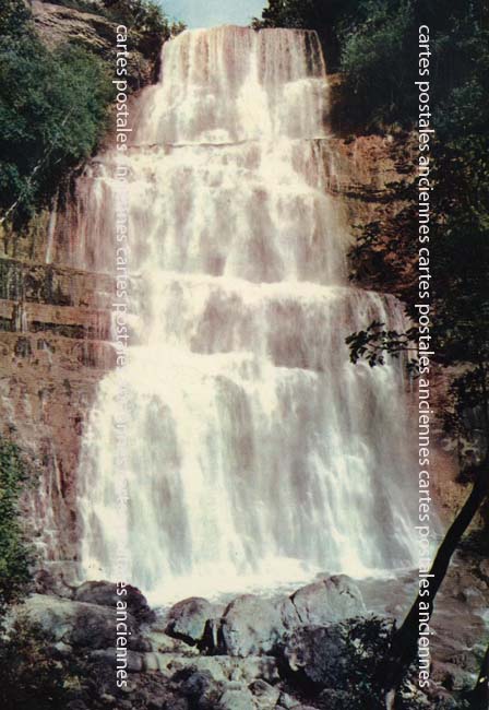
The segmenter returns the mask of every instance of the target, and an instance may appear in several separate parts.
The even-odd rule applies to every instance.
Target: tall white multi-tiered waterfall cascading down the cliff
[[[402,368],[355,367],[345,345],[373,319],[402,328],[402,315],[347,285],[315,34],[186,32],[141,100],[135,334],[85,434],[86,577],[115,577],[121,387],[130,581],[153,599],[412,565]],[[114,163],[108,152],[86,179],[79,232],[106,269]]]

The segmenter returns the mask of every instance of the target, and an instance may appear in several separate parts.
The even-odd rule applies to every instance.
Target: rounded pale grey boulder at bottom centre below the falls
[[[276,604],[244,594],[229,604],[220,619],[217,652],[241,658],[271,653],[285,634]]]

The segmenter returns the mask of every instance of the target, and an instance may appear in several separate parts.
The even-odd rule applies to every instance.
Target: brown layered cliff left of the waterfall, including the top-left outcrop
[[[94,12],[40,0],[31,8],[48,47],[81,45],[115,71],[117,24],[95,2]],[[128,67],[133,91],[155,73],[154,61],[134,49],[138,42],[133,32]],[[70,188],[61,192],[70,202]],[[0,227],[0,436],[15,441],[26,459],[32,476],[26,519],[48,563],[76,558],[83,422],[98,381],[115,365],[112,279],[59,264],[62,258],[51,255],[56,216],[56,210],[40,213],[22,234]],[[65,238],[57,232],[60,242]],[[58,263],[47,263],[51,256]]]

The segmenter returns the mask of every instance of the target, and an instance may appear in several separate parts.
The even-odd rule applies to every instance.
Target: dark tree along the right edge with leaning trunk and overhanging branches
[[[432,563],[429,616],[450,560],[477,511],[487,506],[489,492],[489,43],[480,17],[476,3],[467,3],[465,14],[457,15],[454,49],[461,66],[444,81],[450,91],[433,120],[438,140],[429,175],[431,350],[451,382],[443,412],[445,435],[457,445],[461,481],[473,487]],[[443,46],[445,39],[442,27],[434,45]],[[444,47],[441,57],[446,51]],[[367,225],[351,252],[355,276],[396,293],[413,323],[399,333],[373,322],[348,338],[353,362],[367,358],[372,367],[383,364],[386,354],[416,354],[419,343],[418,185],[407,164],[407,179],[392,185],[389,193],[404,208],[394,217]],[[413,357],[408,365],[416,372]],[[393,637],[382,678],[387,707],[393,707],[395,690],[416,655],[419,602],[418,596]]]

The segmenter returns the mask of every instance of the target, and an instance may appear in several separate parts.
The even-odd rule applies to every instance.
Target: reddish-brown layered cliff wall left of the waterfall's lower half
[[[27,460],[24,502],[47,560],[76,555],[80,437],[97,382],[115,362],[111,292],[111,279],[99,274],[0,260],[0,434]]]

